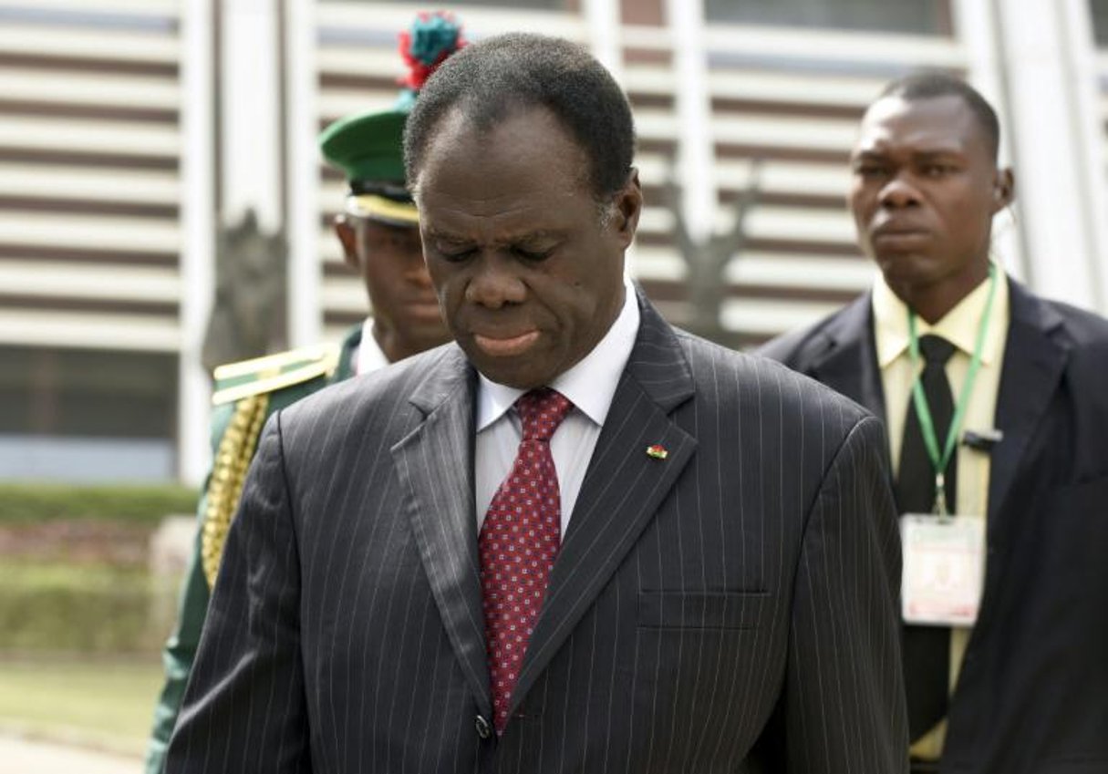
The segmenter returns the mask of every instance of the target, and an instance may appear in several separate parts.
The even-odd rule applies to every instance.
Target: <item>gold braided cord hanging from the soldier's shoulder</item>
[[[204,532],[201,535],[201,559],[208,588],[215,587],[215,577],[223,558],[223,546],[227,541],[230,519],[238,509],[243,496],[246,468],[254,458],[254,450],[266,421],[269,395],[250,395],[235,404],[219,448],[215,455],[212,478],[208,482],[207,504],[204,509]]]

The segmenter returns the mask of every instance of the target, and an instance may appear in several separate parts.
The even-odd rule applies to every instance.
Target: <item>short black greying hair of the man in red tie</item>
[[[423,153],[455,107],[479,132],[510,114],[546,107],[588,159],[598,202],[623,188],[635,155],[635,125],[623,90],[582,47],[509,33],[465,47],[428,79],[404,128],[404,165],[414,183]]]

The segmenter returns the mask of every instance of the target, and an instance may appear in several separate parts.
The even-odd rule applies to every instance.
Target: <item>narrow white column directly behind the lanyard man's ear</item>
[[[998,24],[993,4],[982,0],[955,0],[954,33],[966,54],[967,78],[996,110],[1001,118],[1002,166],[1013,165],[1012,114],[1008,109],[1004,64],[1001,60]],[[1022,194],[1019,172],[1016,172],[1017,202]],[[1017,205],[1018,207],[1018,205]],[[1019,279],[1027,278],[1023,251],[1022,219],[1016,217],[1016,208],[1009,208],[993,219],[993,255],[1005,270]]]

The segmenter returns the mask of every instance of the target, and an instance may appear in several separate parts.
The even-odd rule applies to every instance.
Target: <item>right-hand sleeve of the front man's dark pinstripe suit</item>
[[[809,514],[783,709],[788,771],[907,770],[901,549],[880,423],[849,432]]]

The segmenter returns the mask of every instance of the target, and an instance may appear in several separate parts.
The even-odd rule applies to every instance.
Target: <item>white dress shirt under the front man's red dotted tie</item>
[[[551,455],[562,497],[562,535],[570,525],[585,471],[596,448],[612,398],[638,336],[638,301],[624,278],[624,306],[593,351],[547,386],[573,402],[573,409],[551,437]],[[512,469],[523,438],[515,400],[524,393],[479,374],[475,450],[478,532],[496,489]]]

